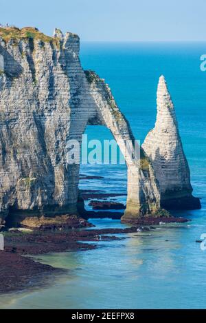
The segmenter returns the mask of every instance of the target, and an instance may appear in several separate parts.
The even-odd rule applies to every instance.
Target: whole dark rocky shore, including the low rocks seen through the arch
[[[111,198],[124,194],[104,193],[98,190],[81,191],[83,200],[89,200],[89,205],[96,211],[83,209],[82,216],[28,216],[21,222],[21,228],[5,229],[5,249],[0,251],[0,294],[36,289],[47,286],[54,275],[61,275],[66,269],[57,269],[34,260],[31,256],[45,253],[65,251],[87,251],[98,247],[98,241],[122,240],[118,234],[136,233],[155,229],[152,225],[171,222],[187,222],[185,218],[172,216],[159,218],[143,217],[131,219],[124,229],[95,229],[89,218],[122,217],[122,203],[111,201]],[[95,199],[95,200],[93,200]],[[100,199],[100,200],[98,200]],[[108,200],[107,200],[108,199]],[[113,209],[113,211],[111,211]],[[129,227],[130,226],[130,227]],[[8,230],[8,231],[6,231]],[[93,242],[93,243],[87,243]],[[25,257],[26,256],[26,257]],[[52,278],[52,280],[50,280]]]

